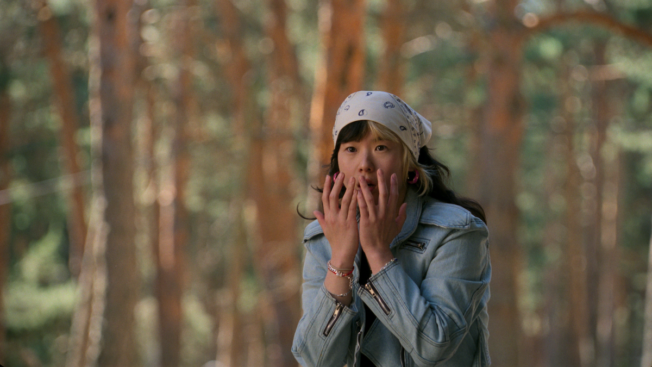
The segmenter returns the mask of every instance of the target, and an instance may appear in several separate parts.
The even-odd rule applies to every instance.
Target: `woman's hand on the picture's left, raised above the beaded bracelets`
[[[354,195],[356,181],[351,177],[345,184],[346,179],[342,172],[334,182],[331,176],[326,176],[321,196],[324,212],[313,212],[330,243],[331,265],[337,269],[353,269],[360,241],[356,221],[357,195]],[[346,192],[340,203],[342,186],[346,186]]]

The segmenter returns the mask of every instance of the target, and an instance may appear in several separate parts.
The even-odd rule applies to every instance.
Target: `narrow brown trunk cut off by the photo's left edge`
[[[0,54],[0,56],[2,56]],[[9,188],[11,165],[9,162],[9,125],[11,99],[7,91],[9,70],[0,58],[0,191]],[[0,363],[5,362],[7,342],[5,332],[4,289],[9,272],[9,236],[11,234],[11,204],[0,204]]]

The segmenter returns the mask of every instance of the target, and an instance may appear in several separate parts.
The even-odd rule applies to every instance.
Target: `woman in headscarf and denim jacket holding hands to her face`
[[[484,212],[446,188],[431,123],[398,97],[338,110],[323,212],[304,232],[303,366],[487,366]]]

